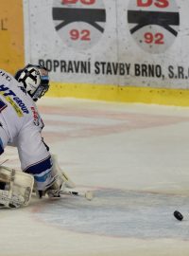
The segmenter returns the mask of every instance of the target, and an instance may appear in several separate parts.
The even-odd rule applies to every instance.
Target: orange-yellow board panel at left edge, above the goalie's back
[[[11,74],[25,64],[23,0],[1,0],[0,67]]]

